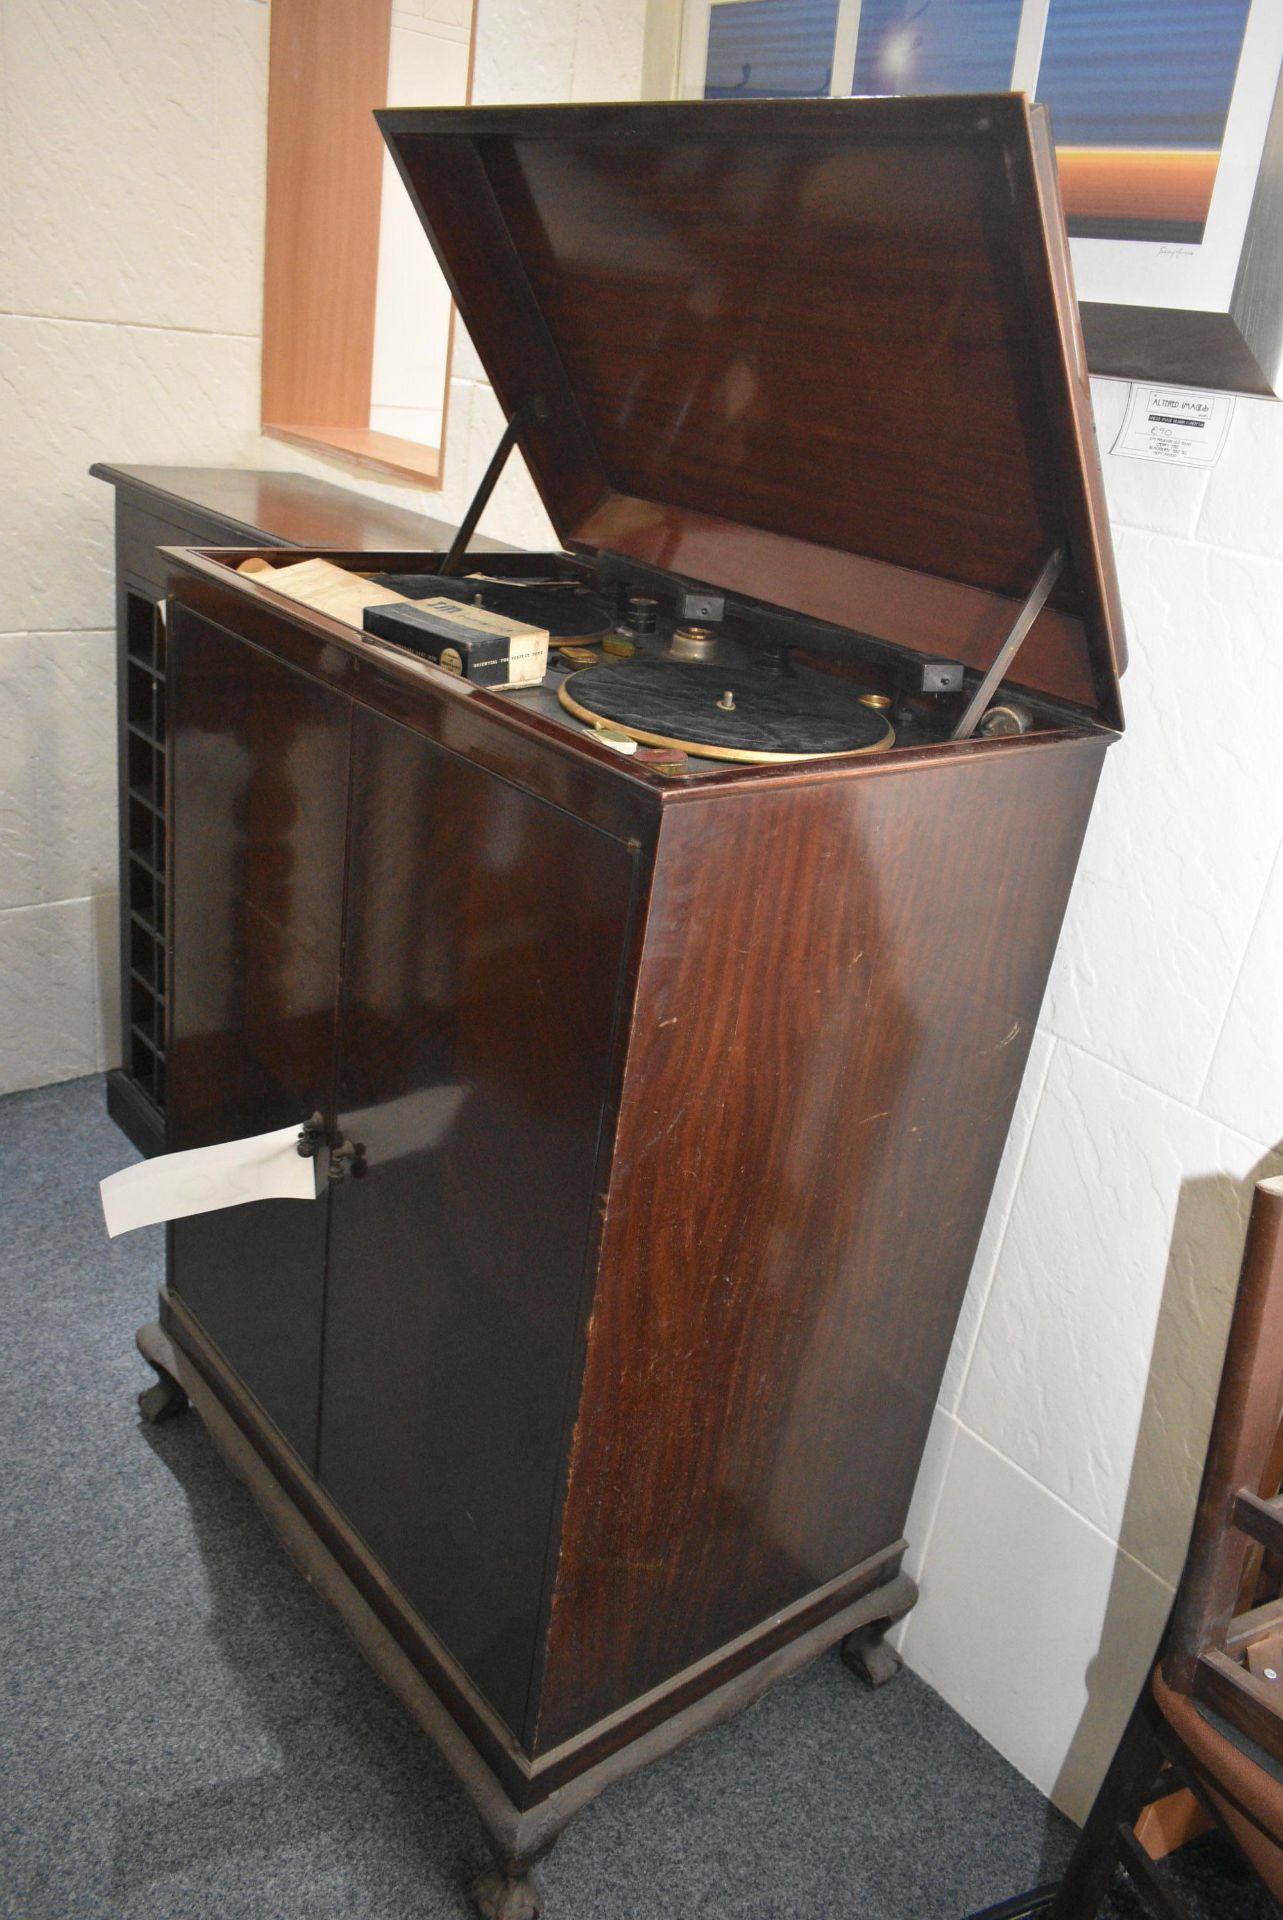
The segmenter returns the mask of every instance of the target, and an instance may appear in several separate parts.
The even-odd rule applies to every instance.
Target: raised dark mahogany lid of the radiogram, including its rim
[[[563,543],[1120,724],[1054,159],[1020,94],[386,109]]]

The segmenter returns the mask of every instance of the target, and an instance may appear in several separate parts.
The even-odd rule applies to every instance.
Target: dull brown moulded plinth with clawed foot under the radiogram
[[[150,1323],[140,1331],[138,1350],[161,1382],[177,1382],[175,1390],[190,1400],[280,1544],[338,1611],[371,1667],[457,1774],[497,1862],[472,1887],[474,1905],[486,1920],[536,1920],[542,1895],[530,1868],[603,1788],[728,1720],[837,1640],[862,1628],[880,1636],[918,1597],[914,1582],[899,1572],[905,1542],[895,1542],[853,1571],[855,1599],[843,1605],[839,1597],[822,1619],[799,1613],[791,1640],[776,1644],[763,1636],[766,1651],[751,1663],[739,1665],[732,1647],[720,1649],[701,1670],[678,1674],[666,1690],[672,1693],[666,1711],[649,1695],[638,1703],[636,1720],[617,1743],[603,1738],[601,1728],[590,1728],[578,1740],[532,1759],[405,1603],[399,1603],[399,1615],[375,1611],[380,1596],[388,1596],[386,1574],[378,1574],[369,1553],[346,1534],[323,1490],[169,1288],[161,1292],[161,1325]],[[361,1555],[369,1561],[371,1580]],[[703,1692],[697,1692],[691,1676],[705,1670]]]

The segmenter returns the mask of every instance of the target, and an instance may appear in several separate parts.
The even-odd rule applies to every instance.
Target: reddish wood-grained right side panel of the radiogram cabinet
[[[1102,751],[665,814],[538,1751],[901,1536]]]

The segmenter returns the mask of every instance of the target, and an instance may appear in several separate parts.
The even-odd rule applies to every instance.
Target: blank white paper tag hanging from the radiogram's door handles
[[[298,1127],[277,1127],[109,1173],[98,1183],[109,1236],[246,1200],[315,1200],[317,1162],[300,1154],[298,1135]]]

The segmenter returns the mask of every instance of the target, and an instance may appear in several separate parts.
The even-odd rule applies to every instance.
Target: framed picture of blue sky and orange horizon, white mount
[[[1095,372],[1279,394],[1283,0],[688,0],[682,92],[1051,108]]]

